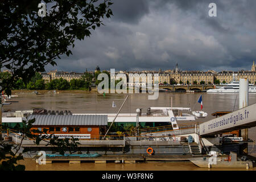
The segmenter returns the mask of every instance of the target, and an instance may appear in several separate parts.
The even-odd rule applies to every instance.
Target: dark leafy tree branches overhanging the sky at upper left
[[[0,68],[10,69],[2,89],[22,78],[28,82],[45,65],[56,65],[60,55],[69,56],[76,39],[90,36],[110,18],[111,0],[45,0],[45,17],[38,15],[40,0],[8,0],[0,3]]]

